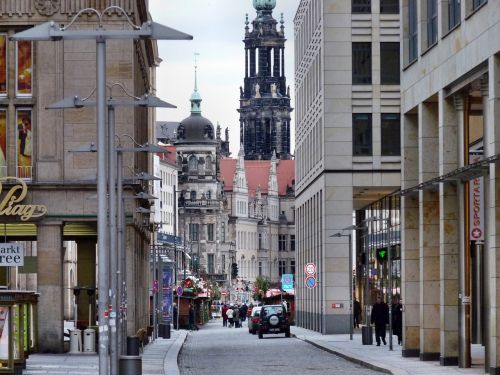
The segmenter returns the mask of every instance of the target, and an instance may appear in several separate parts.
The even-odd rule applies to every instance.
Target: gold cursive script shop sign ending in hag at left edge
[[[17,183],[4,192],[2,181],[13,181]],[[41,204],[21,204],[28,194],[28,186],[17,177],[4,177],[0,179],[0,193],[5,193],[0,197],[0,217],[17,216],[21,221],[28,221],[41,217],[47,213],[47,206]]]

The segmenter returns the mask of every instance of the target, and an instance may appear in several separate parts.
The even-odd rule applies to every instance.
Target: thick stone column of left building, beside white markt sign
[[[42,353],[63,352],[62,223],[43,221],[37,227],[38,345]]]

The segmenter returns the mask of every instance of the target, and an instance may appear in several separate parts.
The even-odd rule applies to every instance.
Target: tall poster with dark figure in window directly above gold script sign
[[[17,110],[17,168],[19,178],[31,178],[33,126],[31,110]]]

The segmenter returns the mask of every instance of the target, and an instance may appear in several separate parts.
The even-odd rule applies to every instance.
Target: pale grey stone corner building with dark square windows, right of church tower
[[[349,290],[348,232],[331,236],[400,185],[399,23],[385,0],[302,0],[294,20],[296,322],[322,333],[349,332],[350,294],[364,297]]]

